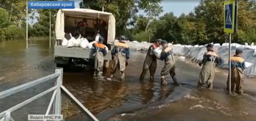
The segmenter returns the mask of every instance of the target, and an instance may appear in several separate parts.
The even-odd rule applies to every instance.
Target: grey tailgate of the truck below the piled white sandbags
[[[94,59],[93,49],[83,49],[81,47],[54,46],[55,57],[72,57],[72,58],[87,58]],[[108,51],[104,60],[111,60],[111,52]]]

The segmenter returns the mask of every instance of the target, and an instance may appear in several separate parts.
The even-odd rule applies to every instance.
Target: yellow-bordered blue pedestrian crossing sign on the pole
[[[224,32],[234,33],[235,0],[224,1]]]

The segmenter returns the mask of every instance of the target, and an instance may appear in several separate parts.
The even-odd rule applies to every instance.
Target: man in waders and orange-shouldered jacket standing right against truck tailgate
[[[104,44],[103,37],[99,38],[99,42],[95,42],[92,44],[94,47],[94,74],[93,77],[102,77],[104,56],[107,54],[107,50]]]

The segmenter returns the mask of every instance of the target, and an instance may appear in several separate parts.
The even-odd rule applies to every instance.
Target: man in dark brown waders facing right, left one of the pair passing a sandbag
[[[154,42],[153,45],[149,46],[148,53],[147,53],[146,58],[145,58],[144,63],[143,63],[143,69],[142,69],[142,72],[140,74],[140,81],[144,80],[144,77],[147,74],[148,69],[149,69],[150,82],[154,82],[157,60],[156,60],[156,56],[155,56],[153,51],[161,45],[161,41],[162,41],[162,39],[157,39]]]

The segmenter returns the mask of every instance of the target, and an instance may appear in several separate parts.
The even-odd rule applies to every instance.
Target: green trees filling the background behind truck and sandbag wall
[[[188,15],[174,16],[162,12],[162,0],[82,0],[80,8],[111,12],[116,18],[116,37],[125,35],[129,40],[150,41],[161,38],[175,44],[224,43],[228,34],[223,31],[224,0],[201,0]],[[239,0],[238,32],[232,42],[256,41],[256,2]],[[0,1],[0,40],[24,39],[26,30],[26,0]],[[51,19],[49,18],[51,11]],[[38,22],[28,25],[28,37],[49,35],[49,24],[54,30],[57,9],[29,10],[30,19]],[[144,11],[145,15],[137,15]],[[38,17],[34,17],[38,13]],[[32,20],[32,21],[33,21]],[[129,27],[129,29],[127,29]]]

